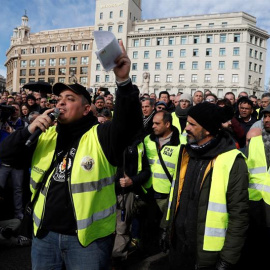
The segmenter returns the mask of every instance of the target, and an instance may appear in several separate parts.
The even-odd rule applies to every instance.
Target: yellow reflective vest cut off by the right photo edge
[[[263,199],[270,205],[270,170],[267,168],[262,136],[251,138],[249,142],[247,166],[249,171],[249,199]]]

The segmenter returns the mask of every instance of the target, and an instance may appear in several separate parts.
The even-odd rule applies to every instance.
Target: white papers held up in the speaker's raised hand
[[[98,51],[96,55],[106,71],[116,66],[115,59],[122,53],[121,48],[110,31],[94,31]]]

